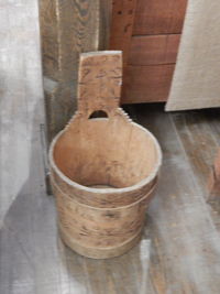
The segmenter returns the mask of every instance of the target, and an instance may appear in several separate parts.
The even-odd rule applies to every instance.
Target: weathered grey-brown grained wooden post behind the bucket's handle
[[[40,0],[48,141],[76,110],[79,53],[107,46],[109,3]]]

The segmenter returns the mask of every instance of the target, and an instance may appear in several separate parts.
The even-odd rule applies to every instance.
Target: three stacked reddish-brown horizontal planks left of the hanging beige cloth
[[[124,102],[168,98],[185,10],[186,0],[138,0]]]

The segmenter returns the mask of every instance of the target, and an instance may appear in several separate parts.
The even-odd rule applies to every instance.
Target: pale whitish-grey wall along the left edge
[[[36,164],[42,160],[41,123],[44,111],[37,0],[1,0],[0,225],[29,182],[33,149],[38,156]],[[33,182],[23,193],[29,193],[28,186],[34,188]]]

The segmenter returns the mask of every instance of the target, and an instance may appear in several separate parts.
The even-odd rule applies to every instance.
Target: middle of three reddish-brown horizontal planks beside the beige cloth
[[[180,34],[133,36],[129,64],[152,65],[176,63]]]

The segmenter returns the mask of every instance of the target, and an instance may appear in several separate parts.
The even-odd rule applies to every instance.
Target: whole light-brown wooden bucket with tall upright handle
[[[140,240],[162,162],[156,139],[119,108],[121,73],[121,52],[80,55],[78,111],[50,149],[62,239],[95,259]]]

